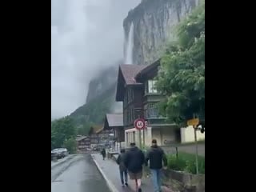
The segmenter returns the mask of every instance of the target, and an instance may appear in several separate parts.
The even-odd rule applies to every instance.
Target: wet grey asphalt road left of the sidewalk
[[[51,170],[52,192],[110,192],[90,154],[78,154]]]

